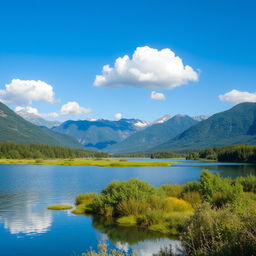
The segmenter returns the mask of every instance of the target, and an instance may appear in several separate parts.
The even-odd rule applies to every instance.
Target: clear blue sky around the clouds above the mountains
[[[54,118],[59,120],[114,119],[116,113],[143,120],[167,113],[210,115],[255,102],[255,12],[255,1],[2,1],[0,90],[13,79],[41,80],[52,86],[54,100],[16,102],[15,94],[7,105],[59,114],[63,105],[77,102],[91,110],[63,111]],[[104,65],[132,58],[143,46],[171,49],[198,74],[197,81],[171,89],[131,80],[120,88],[112,88],[112,80],[93,86]],[[152,90],[165,100],[151,99]]]

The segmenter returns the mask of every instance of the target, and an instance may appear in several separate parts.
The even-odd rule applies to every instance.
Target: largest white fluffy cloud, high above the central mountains
[[[198,73],[184,65],[171,49],[157,50],[144,46],[138,47],[131,59],[125,55],[116,59],[114,67],[103,66],[102,75],[96,76],[94,86],[170,90],[197,80]]]

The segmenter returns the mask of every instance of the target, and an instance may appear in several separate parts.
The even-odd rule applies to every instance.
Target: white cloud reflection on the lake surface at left
[[[51,227],[51,212],[46,208],[34,209],[34,197],[27,193],[0,193],[0,223],[11,234],[45,233]]]

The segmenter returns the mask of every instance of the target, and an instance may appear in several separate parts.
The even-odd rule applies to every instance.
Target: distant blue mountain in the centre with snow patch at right
[[[81,144],[91,149],[104,149],[126,139],[131,134],[147,126],[146,122],[138,119],[109,120],[80,120],[66,121],[53,131],[64,133],[76,138]]]

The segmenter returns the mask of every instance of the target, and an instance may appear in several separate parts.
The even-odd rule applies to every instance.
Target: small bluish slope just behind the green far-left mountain
[[[46,133],[47,135],[51,136],[52,138],[54,138],[55,140],[57,140],[60,144],[62,144],[64,147],[68,147],[68,148],[83,148],[83,145],[80,144],[75,138],[63,134],[63,133],[59,133],[59,132],[55,132],[47,127],[43,127],[40,126],[40,129]]]

